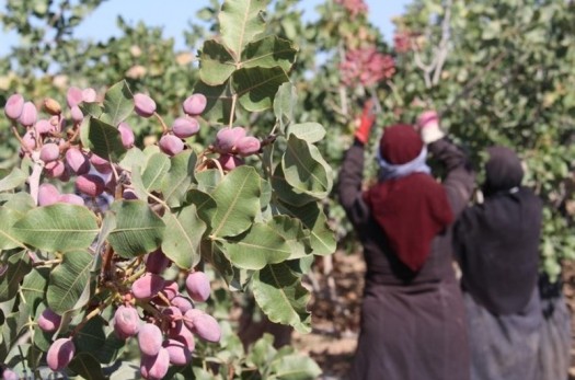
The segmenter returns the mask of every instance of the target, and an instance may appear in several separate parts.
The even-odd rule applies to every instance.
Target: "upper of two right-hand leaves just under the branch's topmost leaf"
[[[280,67],[285,72],[291,70],[298,50],[291,42],[277,36],[266,36],[245,46],[241,67],[244,69]]]

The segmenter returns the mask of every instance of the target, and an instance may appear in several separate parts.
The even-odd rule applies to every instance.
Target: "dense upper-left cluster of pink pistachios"
[[[4,106],[4,114],[12,120],[14,131],[21,140],[21,156],[31,157],[43,165],[44,179],[54,179],[62,182],[76,177],[76,189],[88,197],[102,194],[106,187],[103,176],[91,174],[91,169],[99,173],[110,173],[111,163],[84,150],[79,143],[78,131],[84,118],[81,110],[82,103],[96,102],[97,94],[94,89],[79,89],[71,87],[66,94],[68,105],[67,119],[65,110],[50,97],[42,103],[42,110],[47,117],[41,117],[33,102],[25,102],[20,94],[11,95]],[[70,129],[67,122],[71,120]],[[21,125],[24,130],[16,128]],[[72,131],[73,136],[68,136]],[[131,135],[130,135],[131,134]],[[124,137],[124,135],[126,135]],[[123,141],[134,143],[131,130],[123,134]],[[48,206],[55,203],[69,203],[84,205],[81,196],[76,194],[60,194],[58,188],[46,182],[38,188],[38,205]]]

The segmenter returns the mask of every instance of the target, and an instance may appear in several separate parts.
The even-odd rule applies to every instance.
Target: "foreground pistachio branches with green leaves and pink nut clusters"
[[[8,96],[21,159],[0,180],[0,358],[10,371],[319,375],[268,335],[244,354],[214,302],[221,290],[250,292],[271,321],[308,333],[301,280],[315,255],[335,250],[321,206],[333,186],[317,146],[325,129],[298,123],[297,48],[266,33],[266,5],[221,4],[175,118],[161,114],[174,105],[126,80],[104,92],[69,87],[42,107]],[[252,128],[260,114],[269,122]],[[139,143],[138,119],[156,126],[156,140]]]

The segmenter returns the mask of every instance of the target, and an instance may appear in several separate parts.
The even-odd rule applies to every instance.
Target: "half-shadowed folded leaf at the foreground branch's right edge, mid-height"
[[[303,207],[289,205],[276,205],[281,214],[289,215],[301,220],[303,226],[310,230],[310,240],[313,254],[330,255],[335,252],[335,234],[327,227],[327,217],[317,203],[310,203]]]

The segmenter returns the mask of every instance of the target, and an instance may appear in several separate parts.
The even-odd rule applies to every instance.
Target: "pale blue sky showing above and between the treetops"
[[[304,18],[313,20],[315,7],[323,0],[301,1]],[[384,38],[390,41],[393,34],[391,18],[403,13],[409,0],[366,0],[369,7],[369,21],[379,27]],[[4,11],[7,0],[0,0],[0,12]],[[184,47],[182,32],[187,30],[188,21],[193,21],[198,9],[209,4],[208,1],[188,0],[183,7],[183,0],[107,0],[102,3],[82,24],[77,27],[77,36],[82,39],[106,41],[119,35],[116,16],[122,14],[129,24],[143,21],[150,26],[161,26],[164,37],[173,37],[175,48]],[[137,4],[137,5],[136,5]],[[185,8],[185,9],[183,9]],[[19,36],[10,31],[0,30],[0,55],[5,55],[10,46],[18,44]]]

